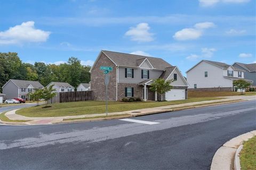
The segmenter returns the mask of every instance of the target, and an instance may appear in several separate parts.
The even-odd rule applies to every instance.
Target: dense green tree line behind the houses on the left
[[[52,81],[68,82],[75,88],[79,83],[90,82],[90,66],[81,65],[76,57],[70,57],[67,63],[55,65],[35,62],[23,63],[18,53],[0,53],[0,92],[10,79],[39,81],[47,86]]]

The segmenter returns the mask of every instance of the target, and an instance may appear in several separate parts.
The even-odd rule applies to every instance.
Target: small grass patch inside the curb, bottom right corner
[[[242,170],[256,169],[256,137],[244,143],[239,157]]]

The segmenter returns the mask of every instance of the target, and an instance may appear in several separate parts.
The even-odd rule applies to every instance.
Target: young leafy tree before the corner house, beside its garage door
[[[165,92],[170,91],[172,89],[171,83],[174,80],[167,80],[165,81],[162,78],[156,79],[154,80],[153,83],[151,83],[150,85],[150,90],[157,92],[158,94],[161,95],[161,101],[163,101],[163,95],[165,94]]]

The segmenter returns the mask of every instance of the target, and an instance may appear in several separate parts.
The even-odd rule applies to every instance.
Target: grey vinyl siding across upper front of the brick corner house
[[[125,68],[118,67],[118,83],[139,83],[147,79],[141,79],[141,70],[134,69],[134,78],[125,78]],[[158,79],[163,71],[149,70],[149,79]]]

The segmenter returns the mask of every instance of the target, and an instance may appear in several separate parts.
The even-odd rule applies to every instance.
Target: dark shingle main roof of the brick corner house
[[[142,59],[147,58],[154,67],[154,69],[164,70],[166,67],[172,66],[171,64],[164,61],[162,58],[110,52],[107,50],[102,50],[102,52],[105,53],[114,63],[116,63],[116,65],[138,67],[143,62]]]

